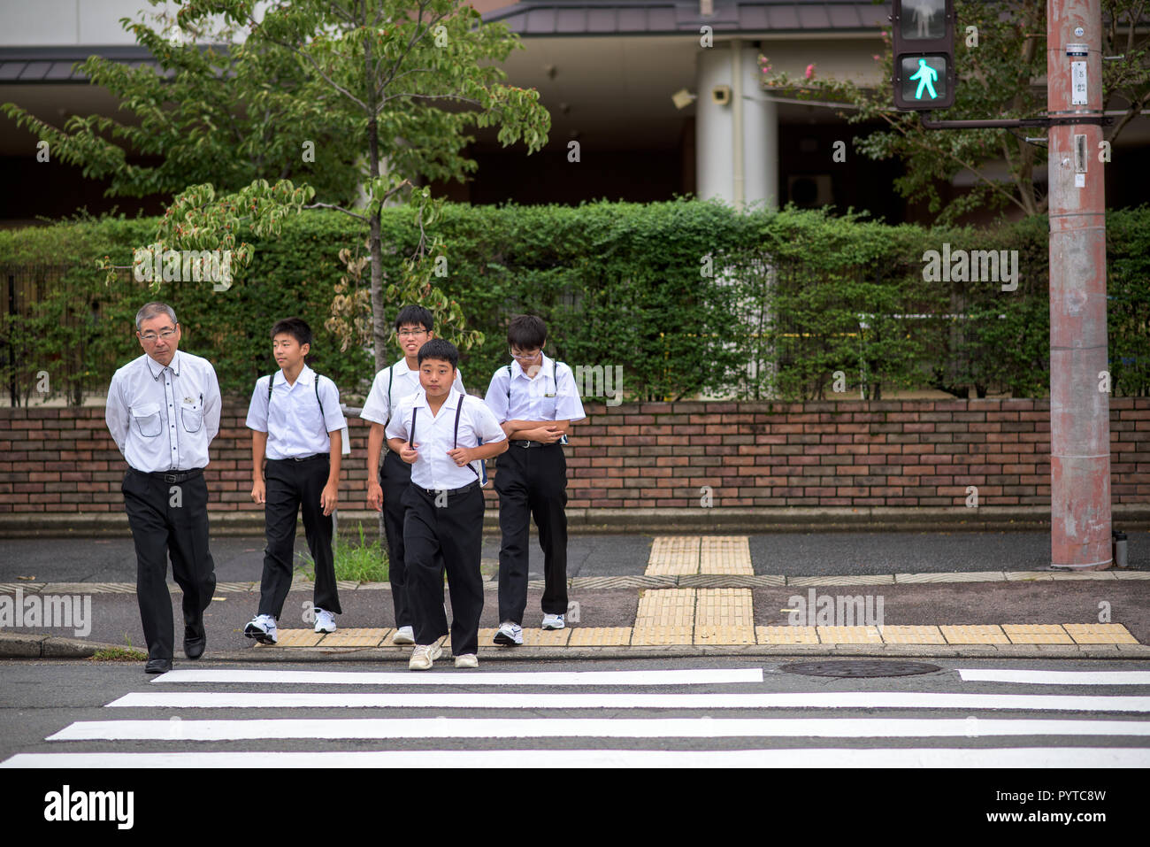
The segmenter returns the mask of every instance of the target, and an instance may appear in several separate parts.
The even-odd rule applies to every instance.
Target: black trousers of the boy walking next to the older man
[[[296,514],[304,508],[304,532],[315,562],[313,603],[337,615],[336,562],[331,555],[331,516],[323,513],[320,495],[328,484],[331,457],[316,453],[309,458],[268,459],[263,467],[263,527],[268,545],[263,551],[263,579],[260,582],[260,615],[279,618],[291,588],[292,556],[296,548]],[[302,610],[301,610],[302,611]]]

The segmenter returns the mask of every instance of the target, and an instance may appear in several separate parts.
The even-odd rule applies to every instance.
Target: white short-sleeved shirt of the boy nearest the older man
[[[270,402],[269,379],[273,380]],[[328,434],[343,429],[347,421],[339,409],[339,389],[336,383],[305,365],[292,384],[288,384],[282,369],[256,380],[247,406],[246,426],[268,434],[264,452],[267,458],[301,459],[330,452],[331,436]]]

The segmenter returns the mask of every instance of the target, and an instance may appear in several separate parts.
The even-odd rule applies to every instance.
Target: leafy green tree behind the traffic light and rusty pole
[[[1150,10],[1147,0],[1103,0],[1104,108],[1122,115],[1105,129],[1113,143],[1129,121],[1150,100],[1150,37],[1136,23]],[[946,120],[1036,117],[1045,113],[1046,5],[1035,0],[956,0],[954,106],[938,112]],[[976,28],[976,43],[967,32]],[[885,49],[875,55],[882,83],[871,89],[849,79],[822,79],[811,66],[802,78],[775,73],[760,56],[764,87],[793,92],[802,99],[843,104],[849,123],[880,122],[885,129],[854,139],[857,147],[875,160],[900,159],[905,174],[895,190],[911,201],[926,201],[941,223],[952,223],[973,209],[1015,209],[1026,215],[1046,209],[1044,183],[1035,169],[1044,168],[1045,148],[1025,140],[1036,130],[926,130],[915,113],[896,112],[890,85],[892,52],[889,28],[883,30]],[[1005,162],[1005,174],[1003,163]],[[969,191],[945,201],[940,185],[969,171]]]

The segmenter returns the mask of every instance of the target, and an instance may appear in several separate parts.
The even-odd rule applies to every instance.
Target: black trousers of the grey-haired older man
[[[175,473],[175,472],[174,472]],[[208,551],[208,488],[200,471],[162,475],[128,468],[121,491],[136,543],[136,598],[148,658],[172,658],[171,575],[184,593],[184,625],[200,627],[215,593]]]

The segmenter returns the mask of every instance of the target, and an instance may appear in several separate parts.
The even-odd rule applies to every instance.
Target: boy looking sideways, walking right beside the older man
[[[256,381],[247,409],[246,425],[252,429],[252,499],[264,506],[268,543],[259,612],[244,634],[274,644],[278,640],[276,621],[291,588],[296,514],[300,508],[315,562],[315,631],[335,632],[332,616],[343,611],[331,549],[331,513],[339,497],[339,465],[347,447],[347,422],[339,407],[336,383],[305,364],[312,343],[307,323],[299,318],[284,319],[273,327],[271,337],[281,369]]]

